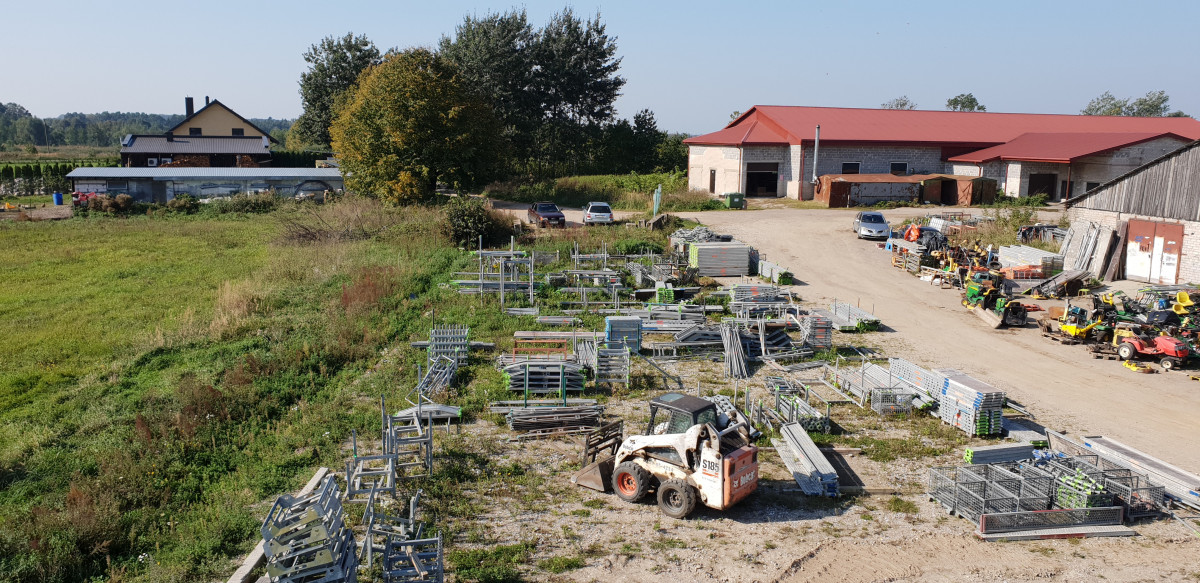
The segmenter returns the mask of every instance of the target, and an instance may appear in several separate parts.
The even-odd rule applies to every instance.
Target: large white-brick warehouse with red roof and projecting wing
[[[755,106],[684,143],[689,188],[713,194],[811,199],[826,174],[953,174],[1061,200],[1195,139],[1190,118]]]

